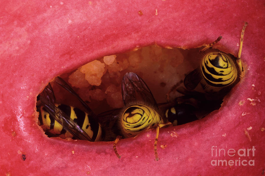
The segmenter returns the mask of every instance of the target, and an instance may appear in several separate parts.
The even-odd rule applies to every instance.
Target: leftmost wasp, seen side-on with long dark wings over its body
[[[112,126],[100,124],[93,111],[62,78],[55,78],[55,83],[74,95],[81,102],[85,111],[56,103],[52,86],[49,83],[40,93],[40,103],[37,105],[39,125],[48,136],[74,137],[92,142],[115,140],[116,136],[111,130]],[[110,121],[111,119],[109,123]]]

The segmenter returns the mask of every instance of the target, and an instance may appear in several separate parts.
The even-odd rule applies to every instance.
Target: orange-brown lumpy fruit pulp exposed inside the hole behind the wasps
[[[185,75],[198,66],[198,54],[199,48],[167,49],[152,45],[136,51],[97,58],[60,77],[73,87],[96,114],[124,106],[121,82],[127,72],[138,74],[150,88],[156,102],[165,103],[166,93],[175,84],[182,83]],[[62,92],[62,88],[55,86],[54,94],[59,102],[77,104],[82,109],[79,107],[80,103]],[[170,98],[181,95],[173,91]]]

